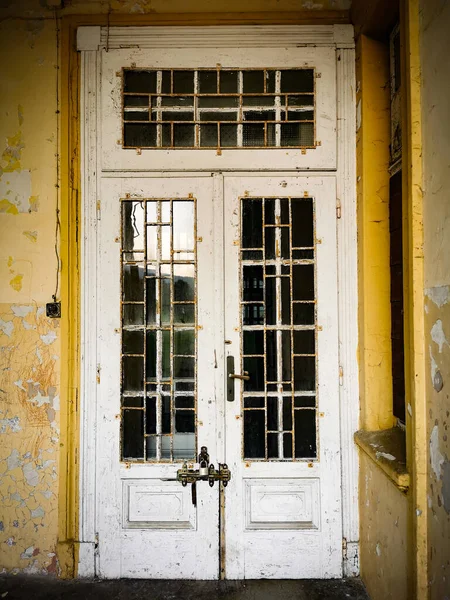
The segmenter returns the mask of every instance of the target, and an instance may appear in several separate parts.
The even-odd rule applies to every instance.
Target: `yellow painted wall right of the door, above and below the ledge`
[[[361,429],[394,425],[389,274],[389,47],[357,41]],[[412,600],[409,499],[360,451],[360,566],[371,600]]]

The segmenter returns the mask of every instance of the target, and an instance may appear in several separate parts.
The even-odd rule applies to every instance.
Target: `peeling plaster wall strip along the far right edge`
[[[430,600],[450,599],[450,53],[448,0],[422,0]],[[444,59],[444,60],[443,60]]]

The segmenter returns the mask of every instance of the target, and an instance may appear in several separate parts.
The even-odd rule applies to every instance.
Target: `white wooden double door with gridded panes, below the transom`
[[[101,188],[98,574],[340,577],[334,178]]]

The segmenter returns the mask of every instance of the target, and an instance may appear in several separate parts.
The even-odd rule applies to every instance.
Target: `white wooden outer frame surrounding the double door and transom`
[[[106,28],[103,28],[106,31]],[[114,28],[120,33],[121,28]],[[133,32],[127,28],[131,36]],[[161,28],[158,28],[161,30]],[[172,30],[171,27],[164,28]],[[192,34],[208,36],[211,28],[189,28]],[[199,31],[200,29],[200,31]],[[238,39],[242,26],[214,28],[224,39]],[[246,27],[248,33],[258,34],[253,47],[328,45],[336,49],[337,78],[337,170],[261,172],[239,171],[242,176],[308,176],[336,177],[337,184],[337,245],[338,245],[338,319],[339,319],[339,401],[342,466],[343,572],[345,576],[359,573],[359,514],[358,514],[358,455],[353,434],[358,429],[358,285],[356,238],[356,101],[355,50],[351,25],[323,26],[258,26]],[[119,31],[117,31],[119,30]],[[251,31],[250,31],[251,30]],[[99,50],[102,28],[80,27],[77,49],[81,53],[80,139],[81,139],[81,381],[80,381],[80,440],[79,440],[79,531],[78,576],[96,574],[96,394],[101,366],[97,362],[96,344],[96,279],[97,279],[97,221],[101,219],[97,173],[100,169]],[[103,32],[103,35],[105,33]],[[107,32],[109,35],[109,32]],[[189,36],[187,36],[189,39]],[[235,42],[236,43],[236,42]],[[181,42],[177,44],[181,45]],[[205,45],[205,44],[201,44]],[[223,45],[223,43],[222,43]],[[101,50],[100,50],[101,51]],[[194,150],[195,152],[195,150]],[[233,171],[237,174],[237,171]],[[120,176],[121,173],[109,173]],[[133,177],[210,177],[212,172],[146,171],[127,173]],[[219,190],[217,190],[220,193]]]

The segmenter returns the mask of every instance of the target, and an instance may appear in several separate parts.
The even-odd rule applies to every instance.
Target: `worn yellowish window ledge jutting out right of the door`
[[[407,492],[410,484],[406,468],[405,432],[399,427],[383,431],[355,433],[357,446],[369,456],[402,492]]]

